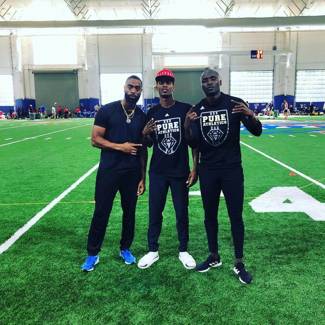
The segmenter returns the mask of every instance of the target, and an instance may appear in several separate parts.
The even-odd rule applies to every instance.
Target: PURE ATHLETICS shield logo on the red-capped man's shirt
[[[180,118],[174,117],[171,119],[159,120],[156,125],[158,148],[167,155],[174,153],[182,139]]]

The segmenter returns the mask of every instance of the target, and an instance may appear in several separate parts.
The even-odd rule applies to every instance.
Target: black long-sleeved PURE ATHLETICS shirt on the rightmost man
[[[231,113],[237,105],[231,100],[246,105],[242,99],[224,93],[213,105],[205,98],[195,105],[197,115],[202,116],[192,127],[193,135],[199,138],[200,169],[230,169],[240,166],[240,121],[254,136],[262,134],[260,121],[253,126],[245,115]]]

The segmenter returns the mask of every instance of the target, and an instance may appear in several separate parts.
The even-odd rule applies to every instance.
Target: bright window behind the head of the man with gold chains
[[[112,101],[122,99],[124,97],[124,85],[126,79],[136,75],[142,80],[142,73],[101,73],[100,74],[100,90],[101,90],[101,103],[105,105]],[[142,80],[143,82],[143,80]],[[143,104],[143,96],[141,93],[137,105]]]

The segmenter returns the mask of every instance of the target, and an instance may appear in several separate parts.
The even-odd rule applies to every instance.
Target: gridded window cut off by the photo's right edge
[[[325,70],[297,70],[295,101],[325,100]]]

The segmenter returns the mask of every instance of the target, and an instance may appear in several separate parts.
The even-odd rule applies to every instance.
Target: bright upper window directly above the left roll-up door
[[[74,35],[33,36],[34,64],[77,64]]]

